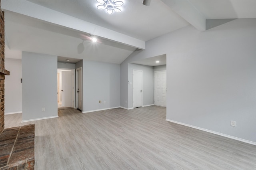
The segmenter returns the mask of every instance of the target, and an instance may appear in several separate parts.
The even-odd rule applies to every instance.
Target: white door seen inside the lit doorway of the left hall
[[[73,70],[62,71],[62,107],[73,107]]]

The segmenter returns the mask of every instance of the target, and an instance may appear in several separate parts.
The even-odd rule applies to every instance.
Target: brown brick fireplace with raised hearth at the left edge
[[[0,0],[0,169],[34,170],[34,124],[4,129],[4,12]]]

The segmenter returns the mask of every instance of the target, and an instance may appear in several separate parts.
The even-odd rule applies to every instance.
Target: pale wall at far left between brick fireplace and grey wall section
[[[21,59],[5,58],[5,69],[10,75],[5,77],[4,113],[22,113],[22,62]]]

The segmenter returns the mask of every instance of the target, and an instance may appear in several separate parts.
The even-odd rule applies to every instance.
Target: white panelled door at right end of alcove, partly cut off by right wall
[[[166,107],[166,71],[154,72],[155,105]]]

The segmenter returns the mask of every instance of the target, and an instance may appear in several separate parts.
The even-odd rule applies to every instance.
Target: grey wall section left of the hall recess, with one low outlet
[[[58,116],[56,74],[56,55],[22,51],[22,121]]]

